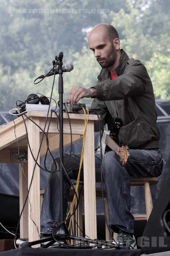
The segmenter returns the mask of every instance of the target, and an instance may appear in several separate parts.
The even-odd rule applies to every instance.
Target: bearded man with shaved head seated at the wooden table
[[[125,167],[113,152],[102,160],[102,172],[108,197],[109,226],[118,241],[128,241],[136,247],[133,236],[134,218],[130,212],[130,177],[159,176],[164,160],[159,151],[159,130],[156,126],[156,107],[153,87],[147,70],[140,61],[129,58],[120,49],[119,35],[109,24],[99,24],[88,37],[90,49],[102,70],[95,86],[85,89],[74,86],[68,102],[77,103],[83,97],[94,98],[91,110],[105,120],[108,114],[122,119],[119,145],[128,145],[130,157]],[[68,155],[64,156],[64,163]],[[80,155],[71,155],[66,171],[77,179]],[[56,159],[59,168],[59,159]],[[100,181],[100,155],[95,154],[96,181]],[[55,166],[52,163],[51,170]],[[83,179],[83,172],[81,178]],[[65,212],[70,184],[65,180]],[[59,224],[59,172],[54,173],[45,190],[41,212],[41,233],[51,234]]]

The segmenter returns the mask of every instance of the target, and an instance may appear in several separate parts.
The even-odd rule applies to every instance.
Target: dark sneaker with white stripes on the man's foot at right
[[[137,249],[134,235],[131,236],[130,234],[123,231],[118,233],[118,243],[129,245],[130,249]]]

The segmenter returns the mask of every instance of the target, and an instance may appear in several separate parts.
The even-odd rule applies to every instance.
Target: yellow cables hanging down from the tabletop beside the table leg
[[[89,117],[89,111],[88,111],[88,108],[86,108],[87,110],[87,119],[86,119],[86,112],[85,112],[85,109],[82,108],[83,111],[84,111],[84,114],[85,114],[85,131],[84,131],[84,134],[83,134],[83,143],[82,143],[82,154],[81,154],[81,157],[80,157],[80,165],[79,165],[79,173],[78,173],[78,176],[77,176],[77,183],[76,183],[76,188],[75,188],[75,191],[77,192],[78,190],[78,187],[79,187],[79,179],[80,179],[80,173],[81,173],[81,168],[82,168],[82,161],[83,161],[83,156],[84,156],[84,147],[85,147],[85,137],[86,137],[86,128],[87,128],[87,124],[88,124],[88,117]],[[73,201],[71,203],[71,207],[70,207],[70,210],[66,216],[66,220],[68,219],[68,216],[70,215],[70,212],[71,210],[73,209],[74,207],[74,204],[75,204],[75,201],[76,201],[76,195],[74,195],[74,198],[73,198]],[[70,218],[70,222],[69,222],[69,226],[68,226],[68,229],[70,230],[70,227],[71,227],[71,219],[72,219],[72,216]]]

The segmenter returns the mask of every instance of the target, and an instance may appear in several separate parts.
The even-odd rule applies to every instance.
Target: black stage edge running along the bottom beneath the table
[[[20,248],[0,253],[0,256],[140,256],[142,251],[136,250],[102,250],[102,249],[56,249],[56,248]]]

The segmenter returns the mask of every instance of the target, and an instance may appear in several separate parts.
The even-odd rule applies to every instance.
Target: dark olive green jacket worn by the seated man
[[[123,126],[119,131],[119,145],[133,149],[159,148],[159,129],[156,126],[156,105],[153,86],[144,65],[122,55],[116,68],[117,78],[111,80],[110,71],[102,69],[94,88],[91,111],[101,115],[103,124],[109,111],[112,117],[119,117]]]

